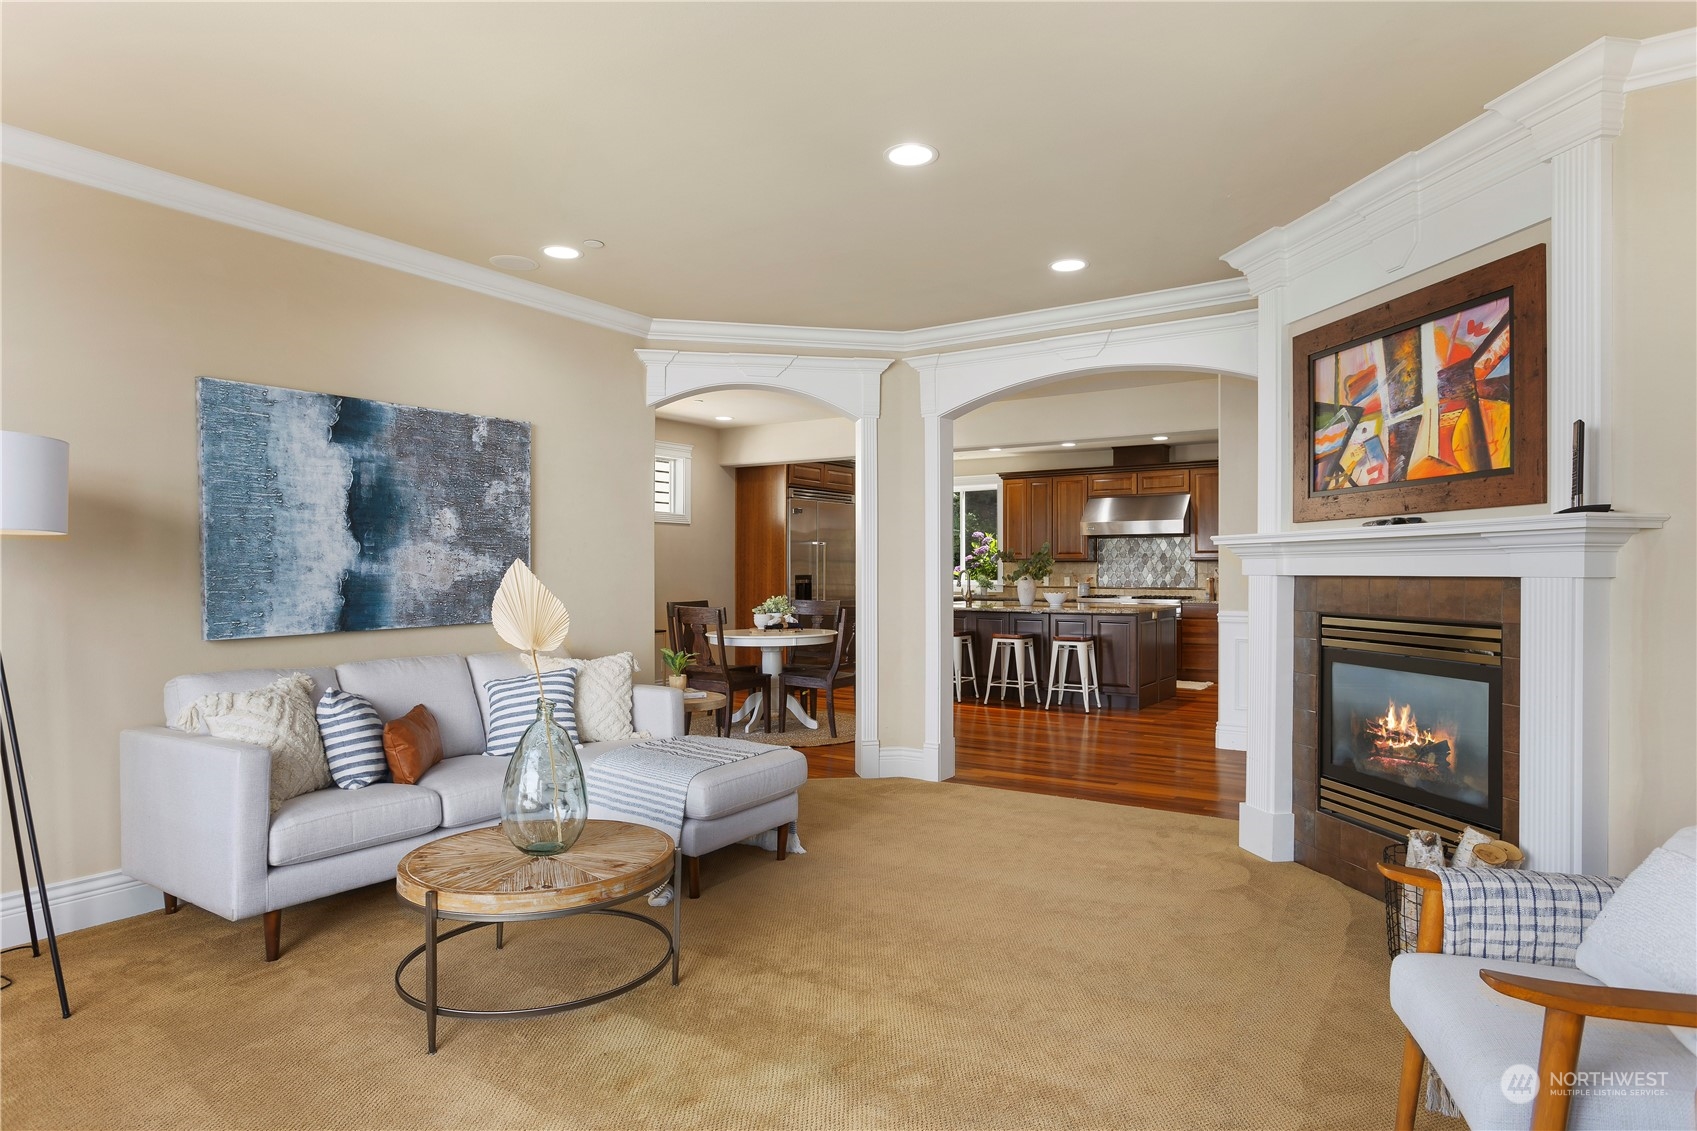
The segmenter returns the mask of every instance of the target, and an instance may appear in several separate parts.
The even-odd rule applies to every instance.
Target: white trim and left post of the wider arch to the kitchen
[[[1256,319],[1256,311],[1237,311],[908,358],[920,374],[925,418],[925,749],[918,776],[954,776],[954,693],[944,649],[954,632],[954,421],[1010,392],[1091,372],[1178,369],[1254,380]]]

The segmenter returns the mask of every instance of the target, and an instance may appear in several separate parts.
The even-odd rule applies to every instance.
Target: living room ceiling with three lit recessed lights
[[[8,124],[655,318],[906,329],[1218,255],[1690,3],[7,3]],[[942,151],[903,170],[910,138]],[[1062,255],[1089,268],[1056,275]]]

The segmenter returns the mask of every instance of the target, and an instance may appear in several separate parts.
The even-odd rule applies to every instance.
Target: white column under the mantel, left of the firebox
[[[1264,859],[1295,859],[1297,819],[1290,808],[1291,701],[1295,686],[1297,581],[1249,577],[1249,754],[1237,844]]]

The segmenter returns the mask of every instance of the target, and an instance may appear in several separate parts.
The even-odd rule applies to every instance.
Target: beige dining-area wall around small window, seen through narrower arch
[[[653,421],[653,438],[687,443],[689,523],[653,525],[653,627],[665,628],[667,601],[706,599],[731,608],[736,589],[736,472],[720,462],[725,431],[672,419]],[[657,637],[664,642],[664,637]],[[658,664],[655,644],[653,662]],[[647,661],[645,661],[647,662]],[[658,674],[658,669],[655,669]]]

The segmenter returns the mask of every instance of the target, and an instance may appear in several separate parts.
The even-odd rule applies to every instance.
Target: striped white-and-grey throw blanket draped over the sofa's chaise
[[[755,757],[770,751],[770,746],[736,739],[701,739],[689,735],[650,739],[636,746],[608,751],[584,766],[584,786],[589,791],[591,805],[611,810],[624,820],[660,829],[670,834],[674,841],[680,841],[684,832],[684,803],[689,798],[691,779],[706,769],[740,762],[745,757]],[[762,844],[762,839],[765,844]],[[777,849],[777,836],[765,832],[750,837],[745,844]],[[796,822],[789,824],[787,851],[806,852],[801,847]]]

